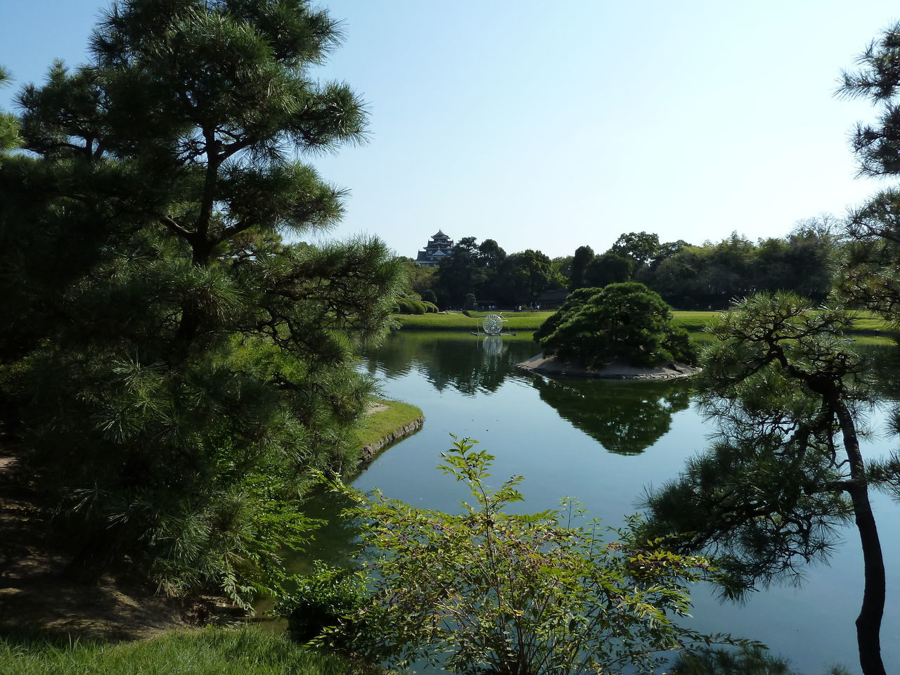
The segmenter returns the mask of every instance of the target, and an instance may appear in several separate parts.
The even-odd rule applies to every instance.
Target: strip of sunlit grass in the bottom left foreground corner
[[[334,654],[304,650],[285,635],[258,627],[179,630],[119,644],[0,636],[2,675],[361,675],[374,671]]]

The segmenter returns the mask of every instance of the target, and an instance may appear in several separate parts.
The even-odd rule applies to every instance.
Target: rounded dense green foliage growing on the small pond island
[[[672,322],[671,307],[644,284],[581,288],[535,333],[545,356],[589,367],[611,362],[693,364],[688,333]]]

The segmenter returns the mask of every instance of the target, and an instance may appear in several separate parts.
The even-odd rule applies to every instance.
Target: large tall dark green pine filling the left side
[[[300,161],[362,138],[356,95],[308,75],[339,38],[305,2],[127,0],[91,64],[19,95],[0,360],[18,452],[84,543],[73,572],[128,556],[172,594],[246,602],[308,536],[311,469],[356,466],[356,347],[402,262],[282,238],[342,211]]]

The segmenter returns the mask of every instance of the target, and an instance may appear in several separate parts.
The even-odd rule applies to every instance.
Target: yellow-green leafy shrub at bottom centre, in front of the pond
[[[393,665],[517,675],[647,672],[662,662],[662,651],[739,642],[698,635],[673,620],[687,615],[688,584],[713,577],[707,559],[638,540],[636,518],[604,542],[598,521],[575,524],[582,514],[572,500],[559,511],[505,513],[524,500],[522,478],[489,489],[484,479],[493,456],[473,444],[455,441],[442,455],[440,468],[473,497],[459,514],[336,485],[356,500],[349,515],[364,523],[374,591],[320,642],[358,636],[372,618],[381,635],[370,643]]]

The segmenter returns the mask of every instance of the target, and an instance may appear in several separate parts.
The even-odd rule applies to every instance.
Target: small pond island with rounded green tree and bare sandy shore
[[[635,282],[575,291],[535,341],[543,353],[518,366],[547,377],[669,380],[698,373],[671,307]]]

